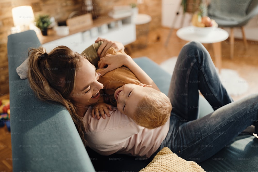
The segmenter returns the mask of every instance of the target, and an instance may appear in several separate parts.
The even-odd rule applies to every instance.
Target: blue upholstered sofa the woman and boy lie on
[[[139,171],[150,160],[85,149],[68,111],[38,100],[16,68],[29,47],[41,46],[33,30],[8,36],[13,171]],[[171,75],[147,57],[134,59],[167,94]],[[200,117],[212,109],[200,96]],[[258,139],[239,135],[212,158],[200,163],[206,171],[257,171]]]

